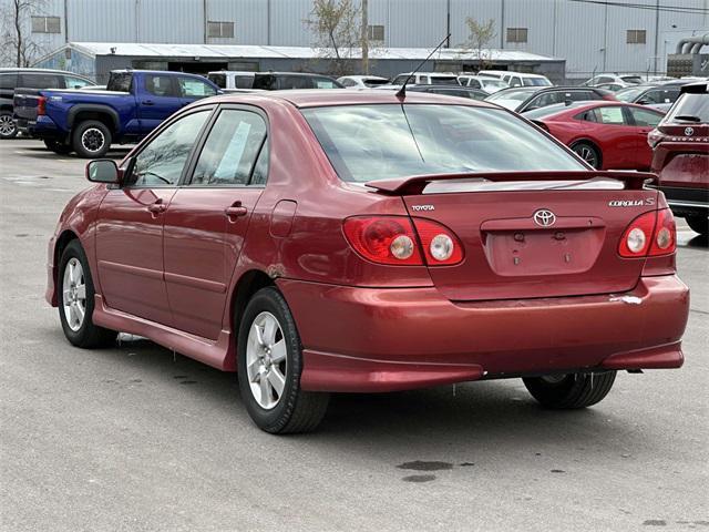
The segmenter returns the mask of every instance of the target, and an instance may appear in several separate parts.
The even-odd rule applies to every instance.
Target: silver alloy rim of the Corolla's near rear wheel
[[[276,316],[260,313],[246,341],[246,371],[256,402],[265,410],[278,405],[286,388],[288,362],[286,340]]]

